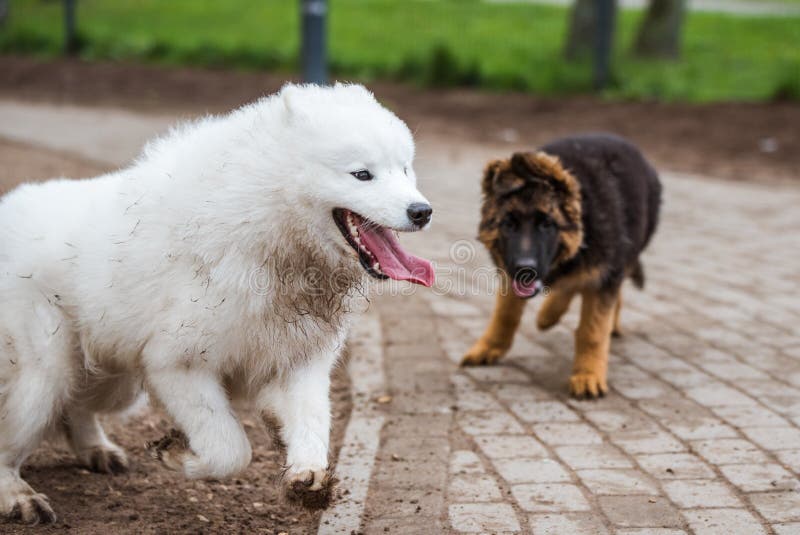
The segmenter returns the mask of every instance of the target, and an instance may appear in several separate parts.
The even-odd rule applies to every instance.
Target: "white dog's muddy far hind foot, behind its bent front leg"
[[[78,460],[95,472],[119,474],[128,469],[125,451],[106,436],[97,415],[71,407],[65,411],[67,441]]]

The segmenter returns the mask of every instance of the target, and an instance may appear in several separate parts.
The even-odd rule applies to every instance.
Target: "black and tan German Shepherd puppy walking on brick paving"
[[[503,274],[494,315],[462,364],[493,364],[511,347],[526,299],[547,288],[537,325],[556,323],[581,294],[569,390],[608,390],[608,349],[619,334],[625,277],[644,286],[639,255],[658,222],[661,183],[630,142],[585,134],[489,162],[480,241]],[[510,290],[510,291],[509,291]],[[546,292],[547,293],[547,292]]]

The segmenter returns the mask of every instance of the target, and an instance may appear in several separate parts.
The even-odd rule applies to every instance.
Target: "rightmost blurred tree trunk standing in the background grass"
[[[650,0],[633,53],[645,58],[677,58],[686,0]]]

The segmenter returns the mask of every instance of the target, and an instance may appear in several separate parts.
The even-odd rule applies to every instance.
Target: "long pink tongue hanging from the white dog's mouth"
[[[359,225],[358,235],[361,243],[375,255],[383,273],[394,280],[433,286],[436,277],[431,263],[405,252],[391,230]]]

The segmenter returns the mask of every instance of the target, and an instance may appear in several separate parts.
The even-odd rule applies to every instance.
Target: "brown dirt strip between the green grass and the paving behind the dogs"
[[[0,56],[0,96],[145,110],[220,112],[276,90],[280,74]],[[658,166],[733,180],[800,178],[800,105],[541,99],[369,84],[412,126],[456,139],[536,147],[587,130],[635,141]],[[472,179],[474,177],[470,177]]]

